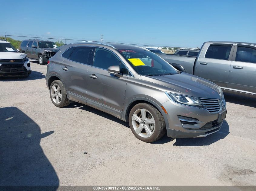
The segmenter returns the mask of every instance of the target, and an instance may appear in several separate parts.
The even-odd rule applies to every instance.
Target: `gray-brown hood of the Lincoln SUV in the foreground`
[[[165,76],[141,76],[141,79],[176,90],[178,94],[192,97],[221,99],[223,94],[221,88],[211,81],[184,72]]]

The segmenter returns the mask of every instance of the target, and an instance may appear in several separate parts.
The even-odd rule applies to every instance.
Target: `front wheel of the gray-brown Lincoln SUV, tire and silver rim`
[[[138,103],[131,109],[129,125],[135,137],[148,143],[160,139],[166,132],[162,114],[148,103]]]

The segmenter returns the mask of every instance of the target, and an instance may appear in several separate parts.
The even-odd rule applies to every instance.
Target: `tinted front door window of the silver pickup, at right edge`
[[[249,47],[237,47],[236,61],[256,63],[256,50]]]

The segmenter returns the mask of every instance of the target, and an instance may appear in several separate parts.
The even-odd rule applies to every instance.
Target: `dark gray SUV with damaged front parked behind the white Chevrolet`
[[[58,50],[59,47],[48,40],[23,40],[20,45],[20,52],[25,53],[28,58],[38,59],[40,65],[47,63]]]

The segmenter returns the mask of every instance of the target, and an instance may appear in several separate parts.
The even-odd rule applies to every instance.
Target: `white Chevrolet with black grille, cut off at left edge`
[[[19,53],[8,41],[0,40],[0,76],[23,76],[31,74],[26,54]]]

